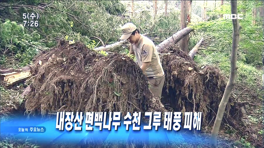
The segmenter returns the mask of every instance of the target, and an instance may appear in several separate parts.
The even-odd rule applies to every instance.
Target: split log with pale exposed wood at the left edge
[[[0,70],[0,75],[1,85],[4,83],[6,86],[9,86],[25,80],[31,76],[31,73],[30,68],[26,66],[20,69]]]

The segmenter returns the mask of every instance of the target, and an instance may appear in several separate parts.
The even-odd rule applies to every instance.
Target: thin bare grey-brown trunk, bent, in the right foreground
[[[237,14],[237,1],[231,0],[231,13]],[[226,89],[224,91],[224,95],[218,107],[216,119],[214,121],[214,127],[211,134],[211,143],[210,143],[211,146],[216,146],[217,144],[217,135],[224,115],[226,104],[230,97],[230,93],[235,85],[236,73],[238,68],[236,65],[236,55],[237,55],[237,46],[238,46],[239,32],[241,30],[241,26],[239,25],[238,19],[233,19],[232,23],[233,23],[233,40],[232,40],[232,51],[231,51],[230,76],[226,85]]]

